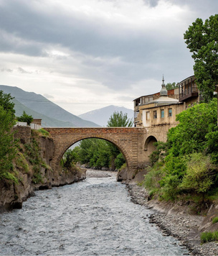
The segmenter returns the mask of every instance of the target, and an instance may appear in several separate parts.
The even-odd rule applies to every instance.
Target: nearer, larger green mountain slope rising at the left
[[[16,115],[22,115],[23,111],[34,118],[41,118],[43,126],[46,127],[98,127],[98,124],[81,119],[74,114],[62,109],[57,104],[44,98],[44,96],[23,91],[13,86],[1,86],[4,93],[11,93],[14,97]]]

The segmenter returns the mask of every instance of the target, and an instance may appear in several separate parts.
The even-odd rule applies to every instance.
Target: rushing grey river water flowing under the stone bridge
[[[37,191],[0,215],[0,255],[187,255],[149,214],[115,175]]]

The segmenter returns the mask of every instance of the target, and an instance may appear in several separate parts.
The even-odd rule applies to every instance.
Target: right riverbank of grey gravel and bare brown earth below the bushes
[[[154,213],[150,216],[150,222],[156,224],[165,236],[173,236],[179,239],[182,245],[189,249],[190,255],[218,255],[218,243],[208,242],[201,244],[201,232],[211,229],[214,231],[217,225],[212,227],[211,217],[214,211],[208,216],[187,214],[186,206],[169,204],[169,206],[159,204],[158,201],[148,201],[148,194],[145,189],[137,185],[127,185],[132,201],[135,204],[141,204]]]

